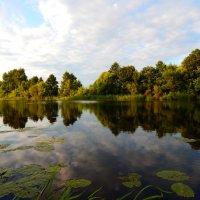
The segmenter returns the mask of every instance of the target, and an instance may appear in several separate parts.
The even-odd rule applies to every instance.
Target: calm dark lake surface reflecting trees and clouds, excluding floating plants
[[[110,200],[130,191],[121,184],[120,175],[139,173],[140,189],[153,184],[170,190],[173,182],[155,174],[179,170],[191,177],[184,182],[195,192],[190,199],[200,199],[198,103],[0,102],[0,144],[14,149],[31,145],[34,136],[64,138],[64,143],[55,143],[51,152],[0,150],[0,167],[64,163],[67,168],[60,171],[58,185],[72,178],[90,179],[85,193],[102,187],[100,196]],[[144,196],[157,193],[147,190]],[[166,194],[164,199],[184,198]]]

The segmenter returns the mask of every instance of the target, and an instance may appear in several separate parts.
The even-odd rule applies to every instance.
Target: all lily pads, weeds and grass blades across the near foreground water
[[[42,167],[40,165],[26,165],[20,168],[0,168],[0,197],[13,197],[14,199],[58,199],[58,200],[72,200],[72,199],[104,199],[99,196],[99,192],[102,187],[96,189],[91,194],[83,198],[84,190],[81,188],[87,188],[92,184],[89,179],[69,179],[64,181],[61,187],[56,188],[53,184],[59,171],[67,167],[64,164],[57,164],[50,167]],[[187,176],[183,172],[179,171],[160,171],[156,174],[165,180],[180,181],[187,180]],[[127,176],[118,177],[122,182],[122,185],[131,189],[117,200],[123,199],[162,199],[167,194],[176,194],[180,197],[194,197],[194,191],[185,183],[175,182],[171,185],[171,190],[161,189],[156,185],[142,186],[142,176],[138,173],[130,173]],[[135,192],[134,187],[139,188]],[[142,188],[141,188],[142,187]],[[78,190],[77,190],[78,189]],[[149,196],[146,191],[157,191],[154,195]]]

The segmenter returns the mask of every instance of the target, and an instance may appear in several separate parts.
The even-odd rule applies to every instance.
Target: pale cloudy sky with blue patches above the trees
[[[114,62],[180,64],[200,48],[199,11],[199,0],[0,0],[0,77],[68,71],[88,86]]]

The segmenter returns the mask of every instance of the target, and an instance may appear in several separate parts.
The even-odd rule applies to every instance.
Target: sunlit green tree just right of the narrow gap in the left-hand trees
[[[65,72],[60,87],[61,96],[73,96],[82,84],[73,73]]]

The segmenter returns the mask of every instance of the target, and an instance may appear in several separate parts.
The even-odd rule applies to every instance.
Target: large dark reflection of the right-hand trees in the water
[[[134,133],[138,126],[156,131],[159,138],[181,133],[182,137],[200,139],[200,106],[195,102],[146,102],[87,104],[103,126],[114,135]],[[198,149],[200,141],[190,143]]]

